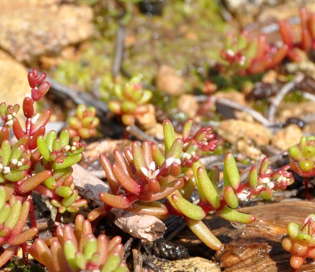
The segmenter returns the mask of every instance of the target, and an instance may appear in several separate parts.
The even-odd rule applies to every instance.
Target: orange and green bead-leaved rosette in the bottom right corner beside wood
[[[289,237],[282,240],[282,247],[292,254],[290,265],[298,269],[306,258],[315,258],[315,215],[307,216],[300,225],[287,224]]]

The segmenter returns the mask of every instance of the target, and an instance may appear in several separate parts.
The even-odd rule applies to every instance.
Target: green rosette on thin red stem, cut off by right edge
[[[308,178],[315,175],[315,136],[302,136],[300,143],[289,148],[292,170],[304,178],[305,193],[311,199],[308,190]]]

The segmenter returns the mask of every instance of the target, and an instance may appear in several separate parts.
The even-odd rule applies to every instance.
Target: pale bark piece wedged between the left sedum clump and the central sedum
[[[104,202],[100,200],[100,192],[107,192],[109,189],[108,184],[99,178],[91,175],[83,167],[78,164],[72,165],[73,168],[73,181],[79,195],[86,199],[93,207],[103,206]]]

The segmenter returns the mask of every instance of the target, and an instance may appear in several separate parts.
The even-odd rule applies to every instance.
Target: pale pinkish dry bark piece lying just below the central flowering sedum
[[[111,211],[116,217],[116,226],[131,236],[154,241],[163,237],[166,230],[164,223],[155,216],[131,213],[117,208],[112,208]]]

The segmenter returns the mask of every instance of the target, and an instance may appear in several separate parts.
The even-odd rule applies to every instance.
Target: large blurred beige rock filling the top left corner
[[[0,1],[0,47],[17,60],[30,62],[93,35],[90,7],[58,2]]]

